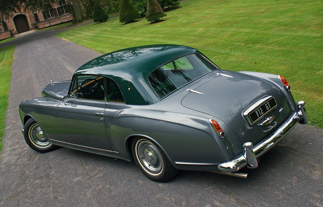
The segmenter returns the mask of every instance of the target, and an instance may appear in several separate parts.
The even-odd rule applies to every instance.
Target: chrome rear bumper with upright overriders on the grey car
[[[243,144],[244,153],[231,161],[220,163],[218,169],[225,173],[234,173],[247,166],[254,169],[258,167],[257,158],[270,150],[279,142],[297,123],[306,124],[307,115],[304,109],[305,102],[297,102],[297,111],[290,118],[276,129],[271,136],[257,143],[255,146],[251,142]]]

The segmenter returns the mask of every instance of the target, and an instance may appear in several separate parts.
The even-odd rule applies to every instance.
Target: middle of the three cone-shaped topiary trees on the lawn
[[[129,0],[121,0],[119,21],[130,23],[138,18],[140,18],[140,15],[136,7]]]

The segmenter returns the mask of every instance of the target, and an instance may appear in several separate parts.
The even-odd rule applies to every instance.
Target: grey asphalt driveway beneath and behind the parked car
[[[37,153],[24,141],[21,101],[40,96],[49,80],[63,81],[100,54],[38,31],[17,45],[12,66],[0,206],[322,206],[323,130],[298,124],[260,158],[247,180],[180,171],[166,183],[146,178],[135,163],[60,148]],[[225,67],[225,65],[223,65]],[[229,69],[229,68],[226,68]]]

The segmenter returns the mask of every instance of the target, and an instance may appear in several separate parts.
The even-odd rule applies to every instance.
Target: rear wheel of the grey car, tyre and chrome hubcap
[[[132,141],[131,151],[141,172],[153,181],[166,182],[177,173],[162,149],[152,141],[137,137]]]

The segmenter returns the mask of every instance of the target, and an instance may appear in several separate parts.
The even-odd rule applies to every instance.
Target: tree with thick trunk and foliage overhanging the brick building
[[[65,0],[65,2],[67,4],[73,3],[75,21],[83,21],[84,15],[80,1]],[[36,12],[37,10],[47,10],[48,5],[52,6],[53,4],[58,4],[58,0],[0,0],[0,20],[2,20],[3,17],[8,18],[16,12],[20,12],[21,8],[23,8],[24,11],[28,9],[31,12]]]

